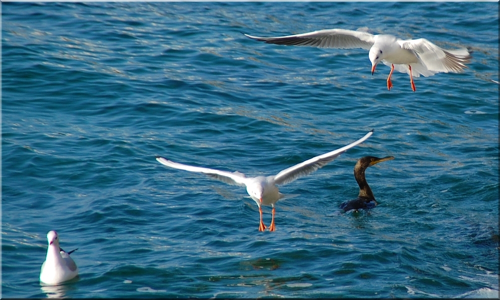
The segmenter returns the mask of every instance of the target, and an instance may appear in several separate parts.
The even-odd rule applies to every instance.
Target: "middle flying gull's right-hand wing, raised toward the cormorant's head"
[[[341,148],[338,148],[336,150],[318,155],[316,157],[312,157],[311,159],[307,159],[303,162],[300,162],[298,164],[295,164],[294,166],[290,166],[289,168],[286,168],[279,173],[277,173],[274,176],[274,183],[275,184],[286,184],[288,182],[291,182],[298,177],[302,177],[305,175],[308,175],[309,173],[317,170],[318,168],[322,167],[323,165],[327,164],[328,162],[332,161],[337,157],[338,155],[342,154],[343,152],[347,151],[348,149],[352,148],[353,146],[360,144],[361,142],[365,141],[368,137],[373,134],[373,130],[370,132],[366,133],[363,137],[360,139],[343,146]]]

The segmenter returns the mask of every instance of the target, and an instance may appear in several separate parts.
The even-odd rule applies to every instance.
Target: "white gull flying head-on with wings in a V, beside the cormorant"
[[[295,164],[294,166],[286,168],[276,175],[271,176],[246,177],[243,173],[240,173],[238,171],[227,172],[206,167],[192,166],[174,162],[160,156],[157,156],[156,160],[169,167],[191,172],[201,172],[228,184],[246,186],[246,191],[250,195],[250,198],[252,198],[258,206],[258,212],[260,214],[260,224],[258,226],[258,231],[264,231],[264,229],[266,228],[264,223],[262,222],[262,208],[260,207],[260,205],[272,206],[272,218],[271,224],[269,225],[269,231],[274,231],[274,203],[285,196],[278,191],[276,184],[286,184],[299,177],[308,175],[309,173],[332,161],[338,155],[363,142],[368,137],[370,137],[371,134],[373,134],[373,130],[366,133],[360,139],[346,146],[318,155],[316,157],[312,157],[308,160]]]

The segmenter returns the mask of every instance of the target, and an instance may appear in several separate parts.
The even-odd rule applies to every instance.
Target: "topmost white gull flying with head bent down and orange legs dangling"
[[[245,35],[266,43],[281,45],[369,50],[368,57],[371,61],[372,75],[379,61],[390,66],[390,73],[387,77],[388,90],[392,87],[390,76],[394,69],[409,74],[411,89],[415,91],[413,76],[419,77],[422,74],[427,77],[438,72],[458,73],[467,67],[465,63],[470,62],[471,56],[466,48],[447,50],[436,46],[425,38],[403,40],[390,34],[373,35],[363,29],[365,28],[358,30],[323,29],[276,37]]]

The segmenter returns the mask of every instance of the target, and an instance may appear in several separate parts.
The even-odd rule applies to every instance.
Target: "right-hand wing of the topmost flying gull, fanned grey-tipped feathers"
[[[413,50],[431,71],[458,73],[472,58],[466,48],[446,50],[425,38],[398,40],[398,43],[403,49]]]

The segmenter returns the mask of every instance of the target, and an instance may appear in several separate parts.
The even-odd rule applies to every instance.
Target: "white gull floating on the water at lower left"
[[[48,285],[56,285],[78,275],[78,267],[69,254],[59,247],[57,232],[50,230],[47,233],[48,249],[45,261],[41,265],[40,281]]]

